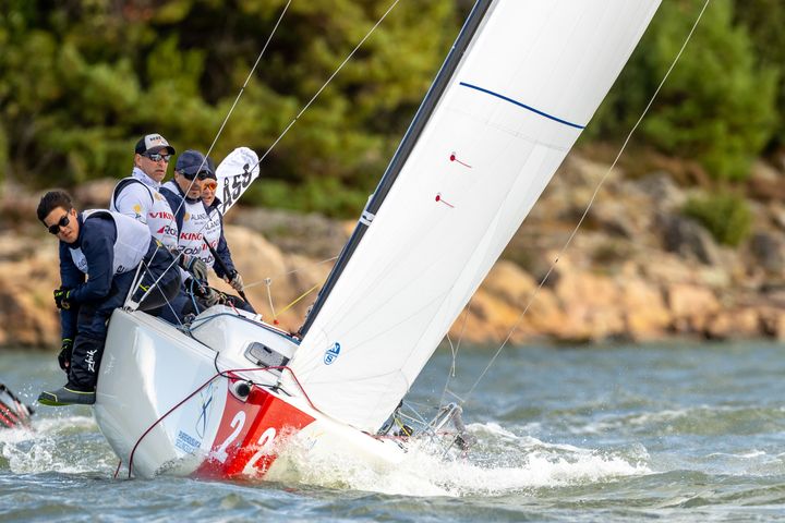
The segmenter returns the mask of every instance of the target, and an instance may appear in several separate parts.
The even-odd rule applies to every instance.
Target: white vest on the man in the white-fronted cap
[[[133,187],[130,185],[133,185]],[[144,187],[144,191],[149,196],[150,204],[143,205],[142,202],[138,202],[134,204],[131,209],[118,209],[117,198],[123,188],[126,187],[128,190],[135,190],[137,194],[142,192],[141,187]],[[145,209],[146,216],[143,216]],[[169,202],[167,202],[167,199],[158,191],[145,184],[137,178],[123,178],[120,182],[118,182],[114,186],[111,202],[109,203],[109,210],[121,212],[125,216],[130,216],[130,212],[133,211],[135,214],[133,218],[142,223],[146,223],[153,236],[156,240],[159,240],[167,248],[173,250],[178,246],[177,223],[174,222],[174,212],[172,211],[172,208],[169,207]]]

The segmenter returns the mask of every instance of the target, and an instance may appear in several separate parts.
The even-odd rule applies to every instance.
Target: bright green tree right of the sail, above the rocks
[[[594,137],[624,136],[676,57],[702,0],[664,3],[597,114]],[[714,0],[643,120],[640,137],[699,160],[717,180],[742,180],[776,122],[778,69],[760,64],[732,0]]]

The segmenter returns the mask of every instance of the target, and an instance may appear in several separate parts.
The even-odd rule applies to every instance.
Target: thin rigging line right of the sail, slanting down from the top
[[[592,194],[591,198],[589,199],[589,203],[585,206],[585,209],[583,209],[583,214],[581,215],[580,219],[578,220],[578,223],[572,229],[572,232],[570,233],[569,238],[567,239],[567,242],[564,244],[561,250],[556,255],[556,259],[551,264],[551,267],[548,268],[547,272],[543,278],[540,280],[540,284],[534,289],[534,292],[532,293],[531,297],[529,297],[529,301],[526,304],[526,307],[523,308],[523,312],[518,316],[518,319],[516,319],[516,323],[512,325],[512,328],[510,328],[509,332],[507,333],[507,337],[502,342],[502,345],[498,348],[496,353],[491,357],[491,361],[485,366],[483,372],[480,374],[478,379],[474,381],[474,384],[471,386],[469,391],[464,394],[463,401],[468,400],[469,397],[471,397],[472,392],[474,392],[474,389],[478,385],[480,385],[480,381],[485,377],[485,374],[488,372],[488,369],[493,366],[493,364],[498,358],[499,354],[502,354],[502,351],[509,342],[510,338],[512,337],[512,333],[518,329],[518,326],[523,319],[523,316],[529,311],[529,307],[531,307],[532,303],[534,302],[534,299],[536,299],[536,295],[539,294],[540,290],[543,288],[545,282],[548,280],[551,273],[556,268],[556,264],[558,264],[558,260],[561,258],[561,256],[567,252],[567,248],[572,243],[572,239],[575,239],[576,234],[578,233],[578,230],[580,229],[581,224],[585,220],[585,217],[589,215],[589,210],[591,209],[592,205],[594,204],[594,200],[596,199],[597,194],[600,193],[600,190],[602,188],[603,184],[605,183],[605,180],[611,175],[611,172],[616,167],[616,163],[618,163],[619,158],[621,158],[621,155],[624,154],[625,149],[627,148],[627,144],[629,144],[630,139],[632,138],[632,134],[638,130],[638,126],[643,121],[643,118],[645,118],[647,113],[649,112],[649,109],[651,109],[651,106],[654,104],[654,100],[656,99],[657,95],[660,94],[660,90],[662,89],[663,85],[665,85],[665,82],[667,81],[668,76],[671,76],[671,72],[676,66],[676,63],[678,63],[679,59],[681,58],[681,54],[684,53],[684,50],[687,48],[687,44],[692,38],[692,35],[696,32],[696,28],[698,27],[698,24],[700,23],[701,19],[703,17],[703,13],[705,13],[706,8],[711,3],[711,0],[705,0],[705,3],[703,4],[703,8],[701,9],[700,13],[698,14],[698,17],[696,19],[695,23],[692,24],[692,28],[687,34],[687,38],[685,39],[684,44],[681,44],[681,48],[676,53],[676,57],[674,58],[673,62],[671,63],[671,66],[665,72],[665,75],[663,76],[662,81],[660,82],[660,85],[657,85],[657,88],[654,90],[654,94],[649,99],[649,104],[647,104],[647,107],[643,109],[643,112],[641,113],[640,118],[638,118],[638,121],[632,125],[632,129],[627,134],[627,137],[624,141],[624,144],[621,144],[621,148],[619,149],[618,154],[616,155],[616,158],[614,159],[611,167],[605,171],[605,174],[603,174],[602,179],[597,182],[596,186],[594,187],[594,193]]]

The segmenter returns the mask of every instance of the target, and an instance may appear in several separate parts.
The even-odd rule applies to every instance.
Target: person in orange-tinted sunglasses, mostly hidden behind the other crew
[[[224,215],[220,211],[221,200],[216,196],[218,179],[215,172],[207,173],[207,178],[202,183],[202,202],[207,209],[207,223],[204,230],[205,242],[208,248],[202,251],[202,259],[215,270],[218,278],[224,279],[232,289],[239,293],[243,293],[242,277],[234,268],[231,258],[229,244],[227,244],[224,235]],[[216,259],[217,256],[217,259]],[[250,303],[231,296],[232,304],[251,313],[255,313]]]

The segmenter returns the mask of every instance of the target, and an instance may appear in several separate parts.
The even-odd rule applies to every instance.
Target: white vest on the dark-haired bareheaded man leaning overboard
[[[117,228],[117,239],[114,240],[114,259],[112,260],[112,273],[121,275],[130,270],[136,270],[136,267],[147,254],[152,234],[147,227],[134,220],[133,218],[102,209],[85,210],[82,212],[83,222],[95,216],[108,216],[114,220]],[[87,273],[87,258],[82,253],[82,247],[70,248],[71,258],[74,265],[85,275]]]

